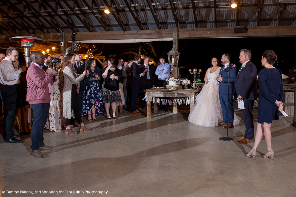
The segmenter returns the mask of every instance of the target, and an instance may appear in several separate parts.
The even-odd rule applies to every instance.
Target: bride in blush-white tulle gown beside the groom
[[[189,114],[189,122],[206,127],[215,127],[222,123],[222,108],[219,100],[219,84],[217,76],[220,71],[219,62],[216,57],[212,57],[213,67],[208,68],[204,81],[204,87],[196,96],[194,109]],[[208,79],[208,80],[207,80]],[[241,118],[234,113],[233,124],[239,124]]]

